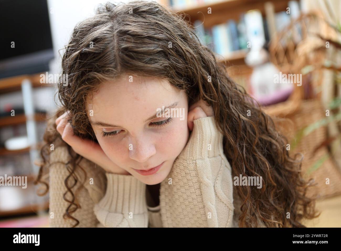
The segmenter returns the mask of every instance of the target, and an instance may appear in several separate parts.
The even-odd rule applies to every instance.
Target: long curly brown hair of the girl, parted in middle
[[[303,218],[318,216],[315,199],[306,195],[311,181],[302,178],[301,158],[289,156],[284,147],[287,139],[278,133],[273,120],[227,75],[226,65],[217,62],[212,51],[199,42],[182,12],[174,13],[157,2],[107,2],[94,16],[76,25],[65,50],[61,73],[68,74],[69,84],[58,84],[62,106],[44,134],[46,145],[41,149],[43,163],[36,184],[43,182],[41,177],[48,171],[50,143],[55,148],[63,143],[56,133],[56,118],[71,111],[69,122],[75,135],[97,142],[87,116],[87,97],[101,82],[134,72],[167,79],[187,93],[189,106],[206,100],[224,135],[224,154],[232,175],[263,178],[262,189],[236,187],[242,201],[239,227],[256,227],[259,220],[267,227],[305,227],[300,223]],[[251,116],[247,116],[248,110]],[[70,175],[65,186],[73,200],[68,200],[64,217],[75,220],[76,226],[79,221],[71,214],[78,207],[68,179],[75,179],[73,173],[82,157],[70,146],[69,151],[74,158],[66,163]],[[43,183],[47,192],[48,183]]]

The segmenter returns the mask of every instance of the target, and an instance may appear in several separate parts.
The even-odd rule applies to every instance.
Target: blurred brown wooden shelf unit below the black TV
[[[37,88],[52,87],[52,84],[41,83],[41,74],[45,72],[31,75],[17,75],[9,78],[0,79],[0,95],[8,95],[13,92],[24,94],[23,81],[29,81],[32,90]],[[33,100],[31,100],[33,101]],[[24,102],[25,106],[25,102]],[[15,116],[11,115],[10,110],[15,111]],[[11,138],[13,136],[23,136],[27,134],[26,123],[28,120],[34,121],[37,129],[42,131],[46,127],[48,118],[46,111],[34,110],[34,114],[27,116],[23,107],[9,107],[7,112],[0,115],[0,130],[3,130],[2,138]],[[2,139],[3,140],[3,139]],[[18,150],[6,149],[3,142],[0,145],[0,176],[6,174],[6,177],[21,176],[27,177],[27,188],[21,189],[18,186],[1,186],[0,187],[0,219],[4,217],[16,217],[17,215],[33,214],[48,209],[47,197],[45,201],[37,200],[35,193],[34,180],[36,175],[31,172],[30,151],[38,150],[42,147],[43,142],[30,145]]]

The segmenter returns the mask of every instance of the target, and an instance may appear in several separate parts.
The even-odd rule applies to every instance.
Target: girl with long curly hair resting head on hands
[[[50,226],[303,227],[317,216],[301,159],[183,16],[100,5],[74,28],[62,74],[37,179]]]

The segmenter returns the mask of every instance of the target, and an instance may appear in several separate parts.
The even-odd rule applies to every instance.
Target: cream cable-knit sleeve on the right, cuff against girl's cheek
[[[167,195],[167,196],[165,196]],[[214,117],[194,120],[160,190],[164,227],[232,227],[233,181]]]

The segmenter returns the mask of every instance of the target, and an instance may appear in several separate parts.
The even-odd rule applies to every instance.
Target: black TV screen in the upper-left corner
[[[0,0],[0,78],[40,73],[54,58],[47,0]]]

